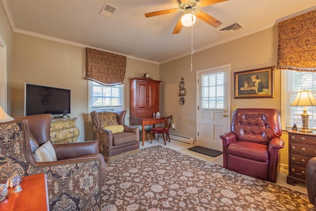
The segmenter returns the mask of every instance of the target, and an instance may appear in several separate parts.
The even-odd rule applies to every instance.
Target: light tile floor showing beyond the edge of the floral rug
[[[153,140],[153,143],[151,144],[150,141],[145,141],[145,146],[142,146],[140,144],[140,149],[146,148],[146,147],[151,147],[151,146],[156,146],[156,145],[162,145],[168,148],[171,148],[173,150],[179,151],[183,154],[186,155],[190,155],[192,157],[198,158],[200,160],[203,161],[207,161],[207,162],[213,162],[217,165],[223,166],[223,155],[219,155],[217,157],[210,157],[207,155],[203,155],[197,152],[193,152],[191,150],[188,150],[188,148],[193,147],[194,145],[188,144],[188,143],[184,143],[181,141],[176,141],[176,140],[172,140],[169,142],[167,142],[166,145],[163,144],[163,140],[162,138],[159,138],[159,140]],[[286,176],[288,174],[288,170],[287,169],[280,169],[278,178],[276,180],[276,184],[281,185],[283,187],[289,188],[289,189],[293,189],[296,191],[299,191],[301,193],[307,194],[307,189],[306,189],[306,184],[303,183],[297,183],[295,186],[294,185],[290,185],[286,183]]]

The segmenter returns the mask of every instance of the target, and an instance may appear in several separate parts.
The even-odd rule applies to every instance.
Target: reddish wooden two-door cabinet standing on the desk
[[[153,118],[153,113],[159,111],[160,82],[144,78],[130,79],[130,117]]]

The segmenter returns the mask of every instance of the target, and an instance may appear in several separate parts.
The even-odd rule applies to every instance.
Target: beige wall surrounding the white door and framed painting
[[[232,105],[237,105],[238,108],[276,108],[280,110],[280,70],[274,72],[274,98],[234,99],[234,73],[276,66],[277,44],[277,27],[273,27],[196,52],[193,56],[194,70],[192,72],[191,55],[161,64],[159,73],[162,81],[160,110],[163,115],[173,115],[176,129],[172,133],[197,138],[196,72],[225,64],[231,64],[231,108]],[[181,77],[184,78],[186,88],[184,105],[178,103]],[[287,142],[287,137],[285,141]],[[286,144],[281,152],[281,163],[287,164],[287,159]]]

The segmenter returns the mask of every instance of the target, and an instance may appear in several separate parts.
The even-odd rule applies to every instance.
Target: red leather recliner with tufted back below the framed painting
[[[279,149],[284,147],[280,112],[276,109],[236,109],[231,132],[223,140],[224,168],[276,182]]]

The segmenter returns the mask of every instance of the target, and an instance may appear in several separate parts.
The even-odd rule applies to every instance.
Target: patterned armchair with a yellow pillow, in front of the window
[[[139,153],[139,127],[124,123],[126,110],[91,112],[94,139],[106,162]]]

